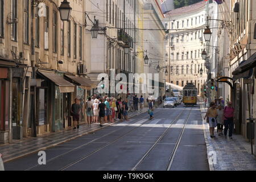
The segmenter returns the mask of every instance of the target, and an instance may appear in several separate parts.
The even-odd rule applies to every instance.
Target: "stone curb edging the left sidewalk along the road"
[[[144,114],[144,113],[146,113],[146,112],[147,112],[147,111],[142,111],[142,113],[133,114],[133,115],[130,116],[130,118],[133,118],[133,117],[135,117],[135,116]],[[117,122],[118,122],[118,121],[117,121]],[[76,137],[72,137],[72,138],[63,140],[63,141],[61,141],[61,142],[55,143],[55,144],[51,144],[51,145],[49,145],[49,146],[39,148],[38,150],[31,151],[31,152],[28,152],[28,153],[26,153],[26,154],[22,154],[22,155],[16,156],[16,157],[11,158],[11,159],[7,159],[7,160],[4,160],[4,159],[3,159],[3,163],[8,163],[8,162],[11,162],[12,160],[16,160],[16,159],[22,158],[22,157],[27,156],[27,155],[35,154],[36,152],[43,151],[43,150],[47,150],[48,148],[58,146],[59,144],[63,144],[63,143],[69,142],[69,141],[71,141],[71,140],[75,140],[75,139],[77,139],[77,138],[79,138],[79,137],[83,137],[84,135],[88,135],[88,134],[90,134],[90,133],[94,133],[94,132],[96,132],[96,131],[99,131],[99,130],[102,130],[102,129],[106,128],[106,127],[109,127],[109,126],[111,126],[111,125],[113,125],[113,124],[115,124],[115,123],[117,123],[117,122],[110,123],[109,125],[100,127],[100,128],[98,128],[98,129],[93,129],[93,130],[87,131],[86,133],[77,135]]]

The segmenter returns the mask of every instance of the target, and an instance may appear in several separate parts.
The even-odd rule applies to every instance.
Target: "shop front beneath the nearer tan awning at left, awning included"
[[[64,73],[40,69],[37,75],[42,79],[36,94],[38,133],[57,132],[71,126],[69,108],[75,85],[64,79]]]

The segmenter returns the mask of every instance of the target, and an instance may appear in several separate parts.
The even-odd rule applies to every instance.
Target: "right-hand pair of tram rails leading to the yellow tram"
[[[152,145],[152,147],[143,155],[143,157],[141,158],[141,160],[139,160],[139,162],[131,169],[131,171],[136,171],[136,169],[143,163],[143,161],[150,155],[151,151],[156,147],[157,144],[159,144],[160,140],[162,140],[164,138],[164,136],[166,136],[168,130],[170,130],[172,128],[172,126],[174,126],[174,124],[176,123],[176,121],[178,121],[178,119],[180,118],[180,116],[184,113],[186,109],[184,109],[179,115],[177,115],[177,117],[174,119],[174,121],[172,121],[170,123],[170,126],[162,133],[162,135],[160,135],[160,137],[158,138],[158,140],[156,140],[156,142]],[[176,151],[177,151],[177,148],[179,147],[179,143],[180,143],[180,140],[183,136],[183,133],[184,133],[184,130],[185,130],[185,127],[187,126],[187,123],[188,123],[188,118],[189,116],[191,115],[191,111],[192,111],[192,107],[191,107],[191,110],[189,111],[189,114],[188,114],[188,117],[187,119],[185,119],[185,122],[184,122],[184,126],[183,126],[183,129],[181,130],[181,133],[179,135],[179,138],[175,144],[175,147],[174,147],[174,150],[172,151],[172,154],[171,154],[171,158],[170,158],[170,162],[168,164],[168,167],[167,167],[167,171],[170,171],[170,168],[171,167],[171,164],[174,160],[174,156],[176,154]]]

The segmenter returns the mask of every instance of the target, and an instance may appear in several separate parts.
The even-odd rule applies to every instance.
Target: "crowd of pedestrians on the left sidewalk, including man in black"
[[[113,123],[117,119],[123,121],[128,120],[128,102],[127,99],[122,100],[119,98],[116,100],[114,97],[89,97],[85,102],[85,111],[82,112],[82,106],[79,99],[75,99],[75,104],[71,107],[71,115],[73,117],[74,129],[79,129],[79,119],[81,113],[86,113],[88,127],[91,127],[92,123],[100,122],[102,127],[104,123]]]

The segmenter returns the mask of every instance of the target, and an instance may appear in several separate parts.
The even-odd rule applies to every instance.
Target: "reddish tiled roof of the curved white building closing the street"
[[[178,9],[174,9],[174,10],[168,11],[167,13],[165,13],[165,15],[166,16],[169,16],[169,15],[173,16],[173,15],[191,13],[193,11],[201,9],[204,6],[205,6],[205,1],[200,1],[200,2],[197,2],[197,3],[193,4],[193,5],[184,6],[184,7],[178,8]]]

